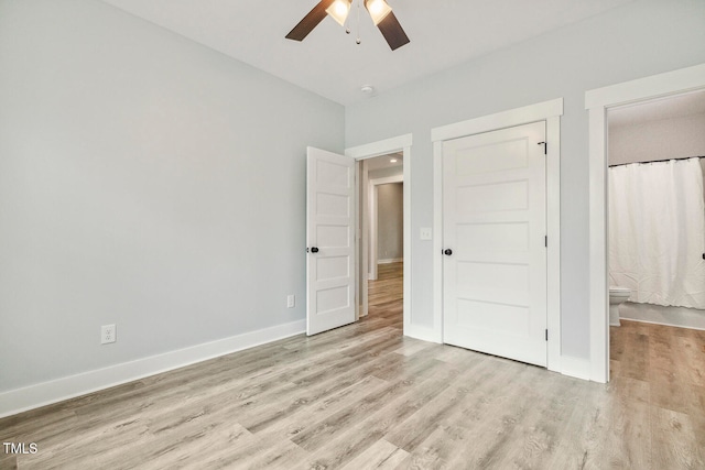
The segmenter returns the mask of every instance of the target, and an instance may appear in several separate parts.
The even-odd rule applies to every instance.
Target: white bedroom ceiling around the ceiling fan
[[[326,18],[285,40],[318,0],[104,0],[341,105],[383,92],[633,0],[388,0],[411,43],[391,52],[362,7],[361,44]]]

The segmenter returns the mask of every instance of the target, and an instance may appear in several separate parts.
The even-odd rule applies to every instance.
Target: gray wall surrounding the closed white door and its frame
[[[413,47],[413,42],[411,43]],[[346,108],[346,145],[413,133],[412,318],[433,326],[431,129],[564,98],[561,119],[562,350],[588,359],[588,122],[585,91],[705,62],[705,2],[637,0]],[[409,182],[404,182],[409,183]]]

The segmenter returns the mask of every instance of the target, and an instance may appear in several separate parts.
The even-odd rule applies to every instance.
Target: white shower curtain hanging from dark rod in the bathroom
[[[609,282],[629,300],[705,309],[699,159],[609,168]]]

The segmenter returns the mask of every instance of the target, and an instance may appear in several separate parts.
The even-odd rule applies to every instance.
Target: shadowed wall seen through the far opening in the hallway
[[[377,186],[377,258],[404,256],[404,184]]]

